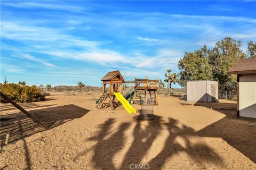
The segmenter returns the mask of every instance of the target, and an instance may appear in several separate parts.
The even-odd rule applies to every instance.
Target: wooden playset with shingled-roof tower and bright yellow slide
[[[126,111],[129,113],[134,112],[134,108],[130,105],[127,99],[134,103],[146,103],[157,105],[157,89],[158,89],[158,79],[150,80],[148,77],[146,79],[136,79],[134,81],[124,81],[121,73],[116,71],[108,72],[105,77],[101,79],[102,81],[102,95],[96,101],[96,108],[106,108],[111,107],[114,109],[122,103]],[[134,83],[134,91],[125,96],[122,95],[122,85],[123,83]],[[107,85],[109,87],[107,87]],[[115,100],[117,99],[117,101]]]

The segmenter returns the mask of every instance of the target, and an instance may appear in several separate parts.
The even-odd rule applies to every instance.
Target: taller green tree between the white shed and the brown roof
[[[236,88],[236,76],[228,75],[227,71],[238,60],[246,58],[241,47],[242,41],[225,37],[218,41],[212,50],[208,51],[213,78],[219,82],[220,90],[231,91]]]

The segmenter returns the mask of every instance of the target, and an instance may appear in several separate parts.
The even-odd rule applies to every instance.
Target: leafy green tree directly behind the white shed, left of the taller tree
[[[178,83],[186,87],[186,81],[191,80],[212,80],[212,66],[209,64],[209,50],[204,46],[194,53],[185,52],[184,57],[179,61]]]

